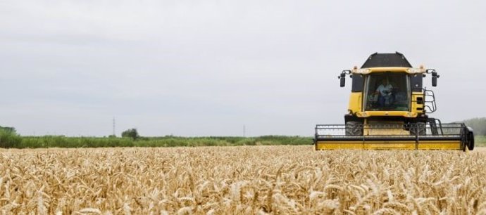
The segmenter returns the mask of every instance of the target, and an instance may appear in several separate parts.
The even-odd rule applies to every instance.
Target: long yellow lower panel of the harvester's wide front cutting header
[[[316,150],[461,150],[461,141],[318,141]]]

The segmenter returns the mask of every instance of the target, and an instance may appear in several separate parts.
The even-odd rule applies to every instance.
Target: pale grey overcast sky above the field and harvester
[[[371,53],[439,72],[442,122],[486,117],[485,1],[0,0],[0,125],[21,135],[312,136]],[[430,77],[425,79],[430,86]],[[245,128],[245,133],[244,129]]]

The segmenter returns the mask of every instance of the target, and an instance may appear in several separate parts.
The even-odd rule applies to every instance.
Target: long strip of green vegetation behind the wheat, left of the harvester
[[[126,135],[125,135],[126,136]],[[261,136],[261,137],[66,137],[23,136],[0,130],[1,148],[97,148],[97,147],[176,147],[176,146],[230,146],[230,145],[310,145],[311,137]]]

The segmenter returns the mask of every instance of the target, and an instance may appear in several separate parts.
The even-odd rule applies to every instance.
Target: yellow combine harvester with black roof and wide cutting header
[[[345,124],[318,124],[316,150],[404,149],[473,150],[473,129],[465,124],[442,124],[431,118],[434,92],[423,88],[423,77],[435,70],[413,68],[401,53],[374,53],[361,68],[344,70],[352,79]]]

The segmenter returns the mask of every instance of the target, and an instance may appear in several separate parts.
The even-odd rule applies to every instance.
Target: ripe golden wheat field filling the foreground
[[[485,150],[0,150],[2,214],[486,214]]]

